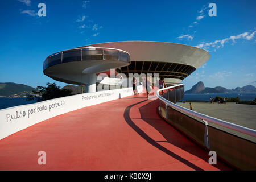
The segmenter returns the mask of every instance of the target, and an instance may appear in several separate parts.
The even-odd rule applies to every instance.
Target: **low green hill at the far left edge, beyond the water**
[[[0,96],[8,97],[19,93],[32,94],[32,90],[36,89],[24,84],[15,84],[11,82],[0,83]]]

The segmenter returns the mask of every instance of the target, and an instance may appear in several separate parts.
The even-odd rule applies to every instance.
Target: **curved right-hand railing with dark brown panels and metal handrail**
[[[164,93],[162,94],[162,92]],[[160,115],[171,125],[207,150],[216,151],[219,158],[225,160],[233,167],[245,170],[256,169],[255,142],[238,137],[220,128],[249,135],[254,141],[256,130],[197,113],[175,104],[184,96],[183,84],[159,89],[156,92],[156,96],[160,100]],[[214,127],[212,124],[220,127]]]

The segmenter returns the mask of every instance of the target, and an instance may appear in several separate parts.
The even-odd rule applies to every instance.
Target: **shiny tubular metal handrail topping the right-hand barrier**
[[[163,89],[159,89],[156,91],[156,97],[159,98],[159,100],[163,101],[165,104],[167,104],[168,106],[170,107],[173,107],[174,109],[176,110],[179,110],[179,111],[182,111],[183,113],[185,114],[188,114],[188,115],[192,115],[194,117],[197,117],[197,118],[200,118],[204,121],[207,121],[207,122],[210,122],[210,123],[214,123],[216,125],[220,125],[220,126],[223,126],[223,127],[226,127],[228,129],[231,129],[231,130],[236,130],[236,131],[239,131],[241,133],[244,133],[244,134],[247,134],[247,135],[251,135],[253,137],[256,137],[256,130],[253,130],[253,129],[249,129],[247,127],[244,127],[244,126],[240,126],[240,125],[236,125],[234,123],[230,123],[230,122],[226,122],[226,121],[223,121],[221,119],[217,119],[217,118],[213,118],[213,117],[210,117],[208,115],[204,115],[204,114],[201,114],[201,113],[197,113],[195,111],[192,111],[192,110],[189,110],[185,107],[182,107],[182,106],[179,106],[177,104],[174,104],[173,102],[171,101],[168,101],[166,98],[163,98],[162,96],[160,96],[159,92],[163,91],[163,90],[167,90],[167,89],[171,89],[171,88],[175,88],[175,87],[178,87],[178,86],[181,86],[181,85],[184,85],[184,84],[178,84],[178,85],[174,85],[174,86],[169,86],[167,88],[163,88]],[[159,106],[160,107],[160,106]]]

